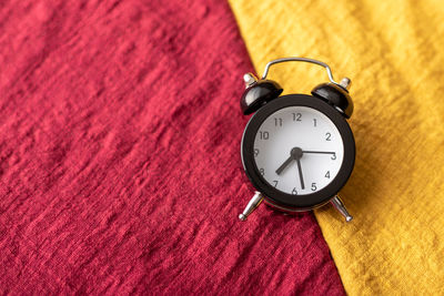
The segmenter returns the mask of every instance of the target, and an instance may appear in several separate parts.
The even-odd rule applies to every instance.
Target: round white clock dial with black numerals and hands
[[[279,191],[312,194],[337,175],[344,144],[337,127],[320,111],[287,106],[271,114],[254,139],[261,175]]]

